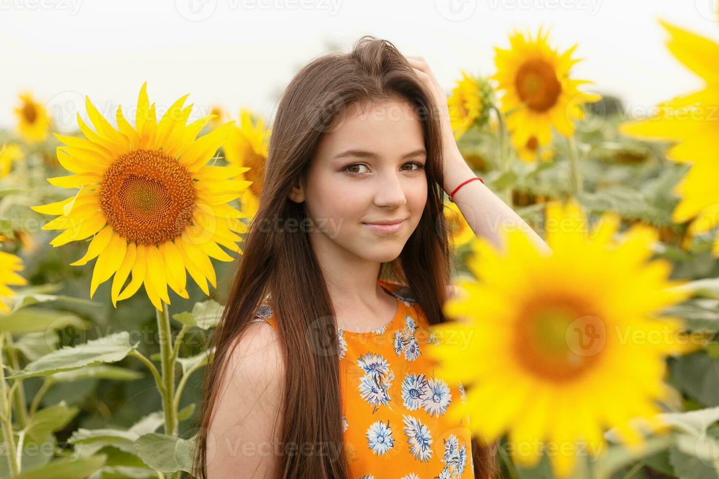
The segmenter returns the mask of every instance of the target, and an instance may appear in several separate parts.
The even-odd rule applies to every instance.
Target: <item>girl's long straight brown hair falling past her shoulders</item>
[[[383,263],[380,277],[408,285],[431,324],[446,321],[441,304],[447,299],[452,247],[444,218],[442,146],[439,110],[431,92],[391,43],[365,35],[349,53],[331,52],[304,66],[285,89],[273,122],[263,174],[260,207],[247,230],[237,270],[219,326],[211,338],[214,361],[206,369],[194,470],[206,478],[206,441],[233,343],[243,334],[266,294],[281,331],[285,358],[282,444],[343,445],[339,361],[317,354],[317,348],[339,350],[329,291],[306,232],[267,227],[280,218],[303,223],[304,204],[288,199],[293,180],[308,169],[321,137],[355,102],[407,101],[421,119],[427,150],[427,202],[416,230],[400,256]],[[288,223],[289,224],[289,223]],[[329,318],[319,330],[317,318]],[[334,334],[331,334],[334,331]],[[331,378],[331,381],[328,379]],[[480,419],[481,420],[481,419]],[[472,440],[475,478],[497,479],[496,445]],[[346,479],[344,447],[339,457],[283,455],[278,478]]]

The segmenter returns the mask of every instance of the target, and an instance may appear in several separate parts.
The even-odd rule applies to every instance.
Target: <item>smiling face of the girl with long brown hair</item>
[[[427,200],[426,160],[421,121],[409,103],[347,108],[290,193],[291,200],[306,202],[313,247],[367,261],[397,258]]]

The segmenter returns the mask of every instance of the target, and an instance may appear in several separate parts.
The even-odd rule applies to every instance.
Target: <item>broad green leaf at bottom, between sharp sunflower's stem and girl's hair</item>
[[[150,468],[161,473],[174,473],[178,470],[190,473],[192,444],[192,440],[157,432],[145,434],[135,441],[139,457]]]

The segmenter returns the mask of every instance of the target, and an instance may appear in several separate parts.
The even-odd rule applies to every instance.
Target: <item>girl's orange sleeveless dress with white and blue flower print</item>
[[[474,479],[469,417],[457,424],[447,416],[466,400],[464,388],[437,377],[422,355],[436,339],[411,290],[377,282],[397,299],[392,321],[370,332],[337,330],[350,477]],[[277,330],[270,304],[254,320]]]

